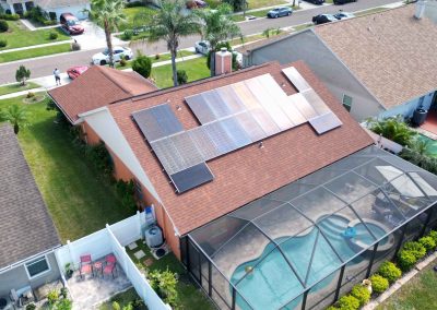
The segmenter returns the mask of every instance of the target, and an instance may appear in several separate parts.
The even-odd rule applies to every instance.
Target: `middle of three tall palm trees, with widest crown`
[[[176,56],[179,39],[200,32],[199,19],[196,14],[187,14],[185,1],[165,0],[161,2],[150,24],[149,41],[165,40],[172,56],[173,84],[178,85]]]

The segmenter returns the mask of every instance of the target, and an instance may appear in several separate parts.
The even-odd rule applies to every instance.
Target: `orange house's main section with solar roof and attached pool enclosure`
[[[326,307],[437,225],[437,177],[374,146],[303,61],[131,96],[74,123],[105,142],[115,177],[134,180],[221,309]]]

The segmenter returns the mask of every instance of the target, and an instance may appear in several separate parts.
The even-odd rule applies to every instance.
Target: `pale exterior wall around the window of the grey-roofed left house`
[[[58,264],[56,262],[55,253],[50,252],[47,254],[47,261],[50,266],[50,271],[29,279],[24,266],[24,263],[0,274],[0,296],[8,296],[11,289],[19,291],[21,288],[31,286],[33,289],[59,279],[61,277]]]

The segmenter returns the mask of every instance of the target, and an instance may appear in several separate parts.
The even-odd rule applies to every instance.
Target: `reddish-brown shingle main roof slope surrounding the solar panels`
[[[182,194],[175,193],[158,159],[144,142],[142,133],[131,119],[134,111],[163,104],[169,105],[185,129],[199,126],[184,98],[208,90],[270,73],[288,95],[296,93],[281,73],[277,62],[265,63],[246,70],[191,83],[178,88],[156,92],[141,98],[109,106],[116,122],[150,177],[179,234],[209,223],[239,206],[260,198],[300,177],[318,170],[351,153],[373,143],[341,104],[329,93],[304,62],[294,65],[323,98],[343,126],[317,135],[310,124],[279,133],[263,140],[263,148],[251,144],[236,152],[209,160],[214,180]],[[288,65],[287,65],[288,67]],[[177,106],[182,107],[178,110]]]

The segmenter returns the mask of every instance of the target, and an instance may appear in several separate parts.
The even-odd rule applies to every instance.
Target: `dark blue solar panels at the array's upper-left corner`
[[[149,142],[184,131],[184,127],[167,104],[132,114]]]

